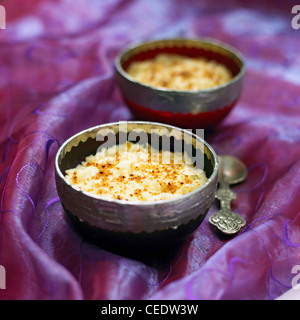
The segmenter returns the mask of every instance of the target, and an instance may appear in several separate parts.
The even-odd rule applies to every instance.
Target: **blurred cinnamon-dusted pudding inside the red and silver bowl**
[[[141,83],[173,90],[209,89],[232,79],[230,70],[214,60],[164,53],[131,63],[127,73]]]

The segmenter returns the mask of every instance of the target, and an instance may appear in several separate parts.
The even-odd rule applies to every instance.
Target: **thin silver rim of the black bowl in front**
[[[105,199],[105,198],[101,198],[100,196],[96,196],[93,195],[89,192],[80,190],[78,188],[75,188],[69,181],[67,181],[67,179],[65,178],[65,176],[63,175],[63,173],[61,172],[60,168],[59,168],[59,157],[61,152],[63,151],[63,149],[65,148],[65,146],[70,143],[73,139],[75,139],[76,137],[79,137],[80,135],[86,133],[86,132],[92,132],[94,130],[97,129],[101,129],[104,127],[109,127],[109,126],[115,126],[115,125],[119,125],[119,124],[141,124],[141,125],[157,125],[157,126],[161,126],[164,128],[169,128],[169,129],[175,129],[175,130],[179,130],[182,131],[186,134],[189,134],[190,136],[194,137],[195,139],[199,140],[203,145],[206,146],[206,148],[211,152],[211,154],[213,155],[213,159],[214,159],[214,169],[213,172],[211,174],[211,176],[207,179],[206,183],[201,185],[200,187],[198,187],[197,189],[188,192],[186,194],[183,194],[182,196],[176,197],[174,199],[165,199],[165,200],[149,200],[149,201],[126,201],[126,200],[117,200],[117,199]],[[164,124],[164,123],[160,123],[160,122],[152,122],[152,121],[117,121],[117,122],[109,122],[109,123],[105,123],[105,124],[101,124],[101,125],[97,125],[94,127],[90,127],[87,129],[84,129],[76,134],[74,134],[73,136],[71,136],[70,138],[68,138],[67,140],[65,140],[63,142],[63,144],[59,147],[56,156],[55,156],[55,171],[58,174],[59,178],[65,183],[67,184],[72,190],[79,192],[93,200],[98,200],[98,201],[104,201],[104,202],[108,202],[108,203],[116,203],[116,204],[122,204],[124,206],[153,206],[153,205],[160,205],[160,204],[169,204],[169,203],[176,203],[177,201],[182,201],[184,199],[188,199],[191,196],[193,196],[196,193],[201,192],[202,190],[204,190],[205,188],[208,187],[208,185],[210,185],[211,183],[213,183],[213,181],[215,180],[216,176],[218,175],[219,172],[219,159],[218,156],[216,154],[216,152],[214,151],[214,149],[201,137],[197,136],[196,134],[180,128],[180,127],[176,127],[176,126],[172,126],[172,125],[168,125],[168,124]]]

